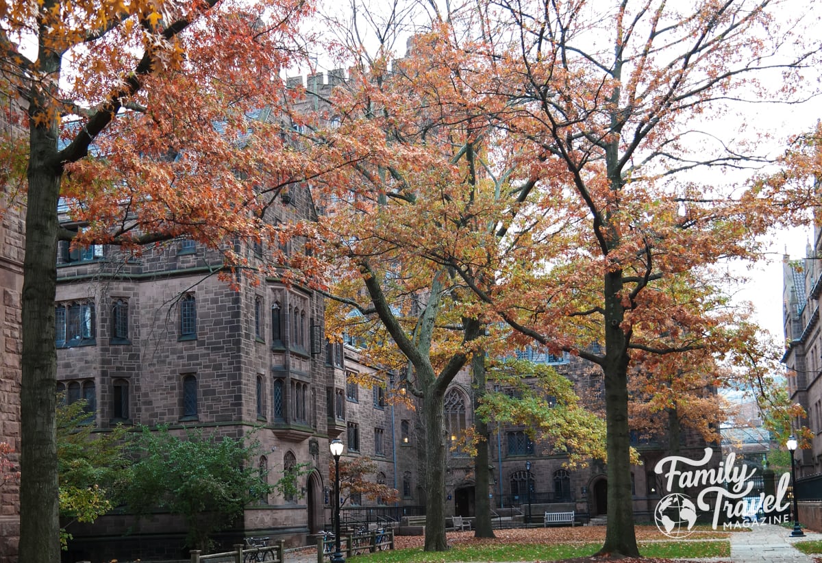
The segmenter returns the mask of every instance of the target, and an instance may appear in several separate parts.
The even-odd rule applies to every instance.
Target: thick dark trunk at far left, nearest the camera
[[[42,95],[33,93],[35,99]],[[54,296],[61,173],[54,162],[57,119],[46,121],[31,120],[25,215],[20,487],[20,561],[25,563],[60,561]]]

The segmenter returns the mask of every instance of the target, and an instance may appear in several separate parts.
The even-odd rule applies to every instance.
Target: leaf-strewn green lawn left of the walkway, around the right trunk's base
[[[449,551],[425,552],[421,547],[409,547],[395,551],[381,551],[358,556],[363,563],[439,563],[440,561],[556,561],[571,557],[591,556],[601,543],[566,542],[546,544],[463,544],[456,543]],[[727,557],[731,554],[731,544],[725,540],[713,542],[640,542],[640,553],[645,557],[658,558],[706,558]]]

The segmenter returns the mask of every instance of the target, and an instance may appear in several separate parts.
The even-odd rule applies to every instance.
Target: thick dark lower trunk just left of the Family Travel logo
[[[605,543],[600,554],[639,556],[630,494],[630,434],[628,428],[627,335],[621,322],[622,272],[605,275],[605,418],[607,427],[608,512]]]

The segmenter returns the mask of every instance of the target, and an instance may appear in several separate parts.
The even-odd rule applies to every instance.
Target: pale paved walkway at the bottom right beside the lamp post
[[[814,563],[796,547],[795,542],[822,539],[822,533],[805,531],[805,537],[792,538],[791,530],[775,524],[755,526],[750,532],[731,534],[731,561],[734,563]]]

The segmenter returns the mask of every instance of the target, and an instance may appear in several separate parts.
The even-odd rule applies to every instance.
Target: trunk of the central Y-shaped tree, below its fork
[[[439,385],[423,390],[425,421],[426,510],[425,551],[446,551],[446,430],[445,393]]]

